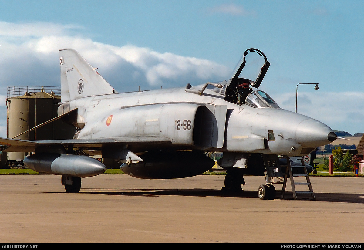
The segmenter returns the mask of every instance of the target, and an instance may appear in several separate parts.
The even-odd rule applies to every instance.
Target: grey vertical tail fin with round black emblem
[[[114,88],[74,49],[59,50],[62,102],[115,93]]]

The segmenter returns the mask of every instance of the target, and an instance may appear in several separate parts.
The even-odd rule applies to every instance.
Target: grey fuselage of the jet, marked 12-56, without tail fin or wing
[[[331,128],[315,119],[281,108],[238,105],[223,98],[208,89],[203,95],[185,88],[160,89],[75,99],[62,104],[58,112],[61,115],[63,110],[78,108],[82,129],[77,139],[153,136],[165,138],[159,146],[177,149],[287,156],[307,155],[331,142]],[[199,111],[200,107],[204,111]],[[211,117],[206,116],[207,109],[214,113],[209,122],[205,119]],[[130,148],[147,151],[155,143]]]

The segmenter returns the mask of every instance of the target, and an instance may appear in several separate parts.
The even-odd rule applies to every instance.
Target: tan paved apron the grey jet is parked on
[[[364,178],[311,177],[316,201],[289,185],[260,200],[264,176],[226,194],[223,180],[99,175],[67,194],[60,176],[0,175],[0,242],[364,242]]]

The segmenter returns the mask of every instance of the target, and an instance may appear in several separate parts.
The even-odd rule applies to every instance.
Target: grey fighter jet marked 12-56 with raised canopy
[[[254,56],[261,64],[249,69],[246,58]],[[215,164],[206,152],[223,152],[217,163],[226,170],[225,189],[241,189],[244,174],[263,169],[266,184],[259,197],[274,199],[267,173],[281,174],[278,155],[305,156],[337,136],[318,120],[281,109],[258,90],[269,65],[261,51],[250,48],[229,80],[117,93],[77,51],[60,49],[61,102],[49,122],[61,118],[74,125],[74,138],[0,138],[0,144],[5,152],[33,152],[25,166],[62,175],[67,193],[80,191],[81,178],[106,171],[90,156],[114,159],[136,178],[171,179],[202,174]]]

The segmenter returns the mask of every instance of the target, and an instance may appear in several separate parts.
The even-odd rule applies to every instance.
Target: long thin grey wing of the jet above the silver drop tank
[[[0,138],[1,151],[4,152],[34,152],[37,147],[72,146],[74,148],[101,148],[113,144],[141,144],[141,143],[170,143],[164,136],[118,137],[102,139],[65,139],[65,140],[19,140]]]

